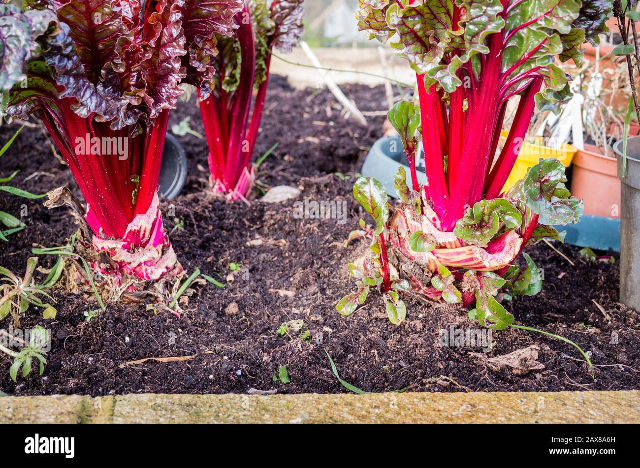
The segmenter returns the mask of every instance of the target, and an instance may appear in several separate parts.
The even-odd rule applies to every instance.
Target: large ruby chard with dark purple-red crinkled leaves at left
[[[209,92],[241,0],[27,0],[0,6],[0,115],[35,116],[87,203],[106,277],[182,272],[157,196],[181,82]],[[105,261],[106,259],[106,261]]]

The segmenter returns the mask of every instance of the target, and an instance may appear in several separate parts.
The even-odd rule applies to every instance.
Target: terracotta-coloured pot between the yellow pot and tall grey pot
[[[573,156],[571,194],[584,200],[584,214],[620,217],[620,179],[616,158],[585,144]]]

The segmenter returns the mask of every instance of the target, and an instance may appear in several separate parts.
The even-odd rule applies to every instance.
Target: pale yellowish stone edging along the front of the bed
[[[640,392],[19,396],[0,423],[637,423]]]

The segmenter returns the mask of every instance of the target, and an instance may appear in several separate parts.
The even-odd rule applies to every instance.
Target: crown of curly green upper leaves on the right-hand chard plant
[[[536,96],[543,110],[558,111],[571,97],[568,77],[554,65],[556,56],[579,63],[580,44],[597,43],[605,32],[612,0],[360,0],[358,26],[370,38],[391,44],[425,75],[451,93],[462,84],[460,70],[481,76],[492,36],[502,33],[502,96],[522,93],[532,79],[545,87]],[[456,24],[454,24],[456,23]],[[497,46],[496,46],[497,47]]]

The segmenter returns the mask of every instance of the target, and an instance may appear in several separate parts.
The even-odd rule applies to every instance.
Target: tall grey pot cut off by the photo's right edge
[[[640,137],[627,140],[627,170],[623,175],[623,141],[613,147],[622,182],[620,202],[620,300],[640,311]],[[596,187],[594,187],[596,188]]]

